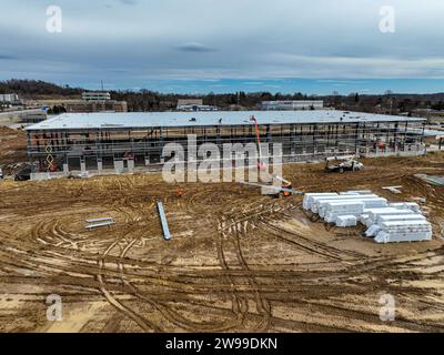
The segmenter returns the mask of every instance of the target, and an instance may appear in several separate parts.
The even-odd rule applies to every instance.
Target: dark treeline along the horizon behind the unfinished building
[[[40,80],[8,80],[0,81],[0,93],[18,93],[23,99],[40,98],[77,98],[85,91],[81,88],[61,87]],[[444,93],[435,94],[400,94],[387,90],[384,94],[350,93],[341,95],[334,92],[330,95],[306,95],[296,93],[270,92],[233,92],[208,93],[204,95],[160,93],[142,89],[140,91],[111,91],[111,98],[127,101],[129,111],[169,111],[174,110],[180,99],[203,99],[203,103],[221,110],[252,110],[260,106],[262,101],[273,100],[323,100],[326,106],[343,110],[400,113],[416,109],[444,110]]]

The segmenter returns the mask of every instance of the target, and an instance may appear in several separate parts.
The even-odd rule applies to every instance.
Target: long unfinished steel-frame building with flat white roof
[[[159,168],[168,143],[282,143],[284,162],[326,156],[423,154],[424,120],[343,111],[141,112],[62,114],[28,126],[38,173],[132,172]]]

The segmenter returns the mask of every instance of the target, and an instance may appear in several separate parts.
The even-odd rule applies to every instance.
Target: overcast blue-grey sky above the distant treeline
[[[62,10],[61,33],[47,31],[49,6]],[[395,11],[394,32],[380,30],[383,6]],[[444,91],[443,0],[1,0],[0,34],[1,80],[98,89],[102,79],[107,89],[178,92]]]

